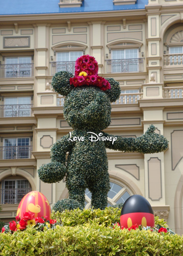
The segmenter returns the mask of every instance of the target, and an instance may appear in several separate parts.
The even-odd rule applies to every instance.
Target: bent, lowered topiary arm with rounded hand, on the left
[[[73,146],[72,141],[68,141],[69,134],[58,140],[51,147],[51,162],[43,164],[38,169],[39,178],[45,183],[55,183],[61,181],[66,175],[66,153]]]

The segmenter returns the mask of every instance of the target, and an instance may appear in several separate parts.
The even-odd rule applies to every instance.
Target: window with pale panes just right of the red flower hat
[[[138,72],[138,49],[123,49],[112,51],[112,73]]]

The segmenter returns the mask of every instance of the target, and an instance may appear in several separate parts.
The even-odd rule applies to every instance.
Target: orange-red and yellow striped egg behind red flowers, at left
[[[23,218],[25,212],[30,212],[31,215],[36,217],[51,217],[51,208],[47,198],[38,191],[31,191],[25,195],[18,205],[16,215]]]

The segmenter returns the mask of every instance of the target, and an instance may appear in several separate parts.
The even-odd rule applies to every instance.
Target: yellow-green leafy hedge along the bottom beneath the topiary
[[[55,229],[0,234],[2,256],[180,256],[183,237],[150,230],[121,230],[117,208],[71,210],[53,214],[61,222]],[[156,218],[156,223],[162,222]],[[164,223],[165,224],[165,223]]]

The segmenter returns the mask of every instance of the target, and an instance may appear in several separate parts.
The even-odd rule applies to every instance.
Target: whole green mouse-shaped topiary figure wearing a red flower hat
[[[111,122],[111,102],[119,98],[120,87],[113,78],[98,76],[94,57],[79,57],[75,76],[60,71],[53,77],[52,84],[56,92],[66,96],[64,117],[73,132],[53,145],[51,162],[39,168],[39,177],[43,182],[54,183],[66,175],[69,199],[84,207],[88,188],[92,193],[92,206],[104,209],[110,190],[106,147],[148,154],[166,150],[168,141],[154,133],[153,125],[138,138],[114,137],[102,132]]]

